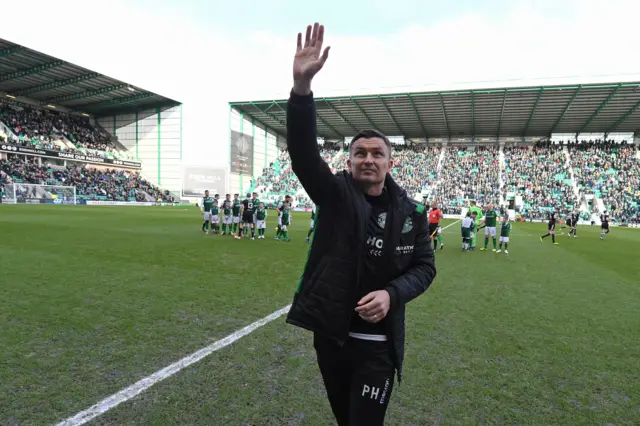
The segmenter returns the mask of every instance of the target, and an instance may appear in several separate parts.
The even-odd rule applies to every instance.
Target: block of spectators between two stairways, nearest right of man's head
[[[447,148],[433,194],[445,214],[459,214],[468,200],[498,205],[499,154],[497,146]]]

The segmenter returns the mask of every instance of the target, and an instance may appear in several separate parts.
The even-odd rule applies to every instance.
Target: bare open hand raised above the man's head
[[[329,47],[322,51],[324,42],[324,25],[317,22],[307,26],[307,33],[302,45],[302,33],[298,33],[298,46],[293,59],[293,91],[298,95],[311,93],[311,80],[322,69],[329,57]],[[320,55],[322,52],[322,55]]]

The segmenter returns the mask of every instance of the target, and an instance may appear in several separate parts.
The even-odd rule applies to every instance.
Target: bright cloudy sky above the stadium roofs
[[[287,96],[296,33],[314,20],[331,45],[322,96],[640,78],[632,0],[19,4],[0,37],[183,102],[192,164],[227,161],[229,101]]]

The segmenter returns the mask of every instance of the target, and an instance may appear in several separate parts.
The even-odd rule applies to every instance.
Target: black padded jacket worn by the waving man
[[[287,322],[344,344],[358,302],[358,282],[366,255],[366,224],[371,206],[347,172],[333,174],[318,150],[313,95],[289,98],[287,147],[291,167],[317,206],[315,234]],[[391,299],[387,335],[392,359],[402,379],[405,304],[422,294],[436,275],[427,215],[387,175],[391,200],[384,228],[378,289]]]

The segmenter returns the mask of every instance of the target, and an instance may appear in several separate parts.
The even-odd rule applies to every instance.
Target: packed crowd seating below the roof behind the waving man
[[[567,152],[567,148],[570,152]],[[347,168],[348,151],[337,146],[323,147],[322,157],[334,172]],[[526,219],[544,219],[550,211],[560,217],[582,208],[582,217],[591,216],[582,197],[602,197],[616,222],[638,223],[640,206],[640,160],[635,146],[549,142],[504,147],[504,167],[500,148],[494,146],[395,145],[392,171],[395,179],[412,196],[425,194],[435,199],[446,214],[459,214],[471,199],[481,205],[504,205],[507,194],[522,197],[517,211]],[[444,154],[439,165],[441,154]],[[567,158],[573,157],[574,189]],[[504,182],[501,188],[500,181]],[[308,198],[291,172],[288,154],[263,170],[257,187],[264,199],[291,194],[302,205]]]

